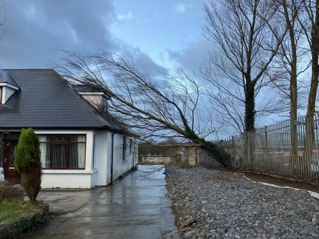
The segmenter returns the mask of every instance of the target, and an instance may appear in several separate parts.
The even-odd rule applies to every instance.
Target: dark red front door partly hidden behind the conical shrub
[[[14,148],[18,141],[6,141],[7,144],[3,150],[3,174],[4,179],[9,181],[20,181],[20,174],[15,170]]]

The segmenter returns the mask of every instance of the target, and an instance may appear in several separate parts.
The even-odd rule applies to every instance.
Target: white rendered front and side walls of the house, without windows
[[[44,169],[42,188],[92,188],[111,183],[112,132],[93,130],[37,130],[36,134],[86,134],[85,170]],[[95,140],[94,140],[95,135]],[[113,180],[129,171],[138,162],[137,147],[130,153],[127,137],[126,160],[123,161],[123,134],[114,134]],[[94,140],[94,148],[93,148]],[[94,153],[93,153],[94,150]],[[94,157],[94,165],[93,165]],[[135,161],[133,162],[133,158]]]

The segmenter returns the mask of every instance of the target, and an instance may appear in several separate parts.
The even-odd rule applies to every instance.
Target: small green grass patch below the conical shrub
[[[31,203],[16,198],[6,198],[0,203],[0,225],[8,224],[14,219],[27,217],[38,212],[41,202]]]

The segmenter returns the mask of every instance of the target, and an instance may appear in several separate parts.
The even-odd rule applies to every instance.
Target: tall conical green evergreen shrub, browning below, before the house
[[[22,185],[31,202],[41,189],[41,159],[39,136],[32,128],[22,129],[14,150],[15,166],[22,175]]]

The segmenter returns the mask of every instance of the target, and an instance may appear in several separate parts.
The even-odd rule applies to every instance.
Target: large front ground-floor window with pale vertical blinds
[[[42,168],[84,169],[86,135],[39,135]]]

